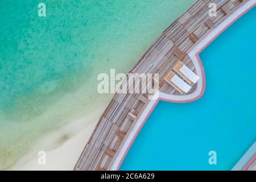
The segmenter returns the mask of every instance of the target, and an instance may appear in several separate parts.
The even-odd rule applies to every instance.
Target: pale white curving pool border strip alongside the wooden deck
[[[156,97],[156,100],[151,100],[148,103],[143,113],[141,114],[141,117],[138,118],[137,123],[135,123],[133,129],[131,129],[131,132],[129,133],[129,136],[127,136],[122,147],[119,149],[118,155],[115,157],[115,160],[112,163],[112,167],[110,168],[110,170],[116,171],[121,167],[121,164],[125,159],[125,156],[127,155],[127,152],[129,151],[135,138],[139,134],[139,131],[141,131],[147,118],[150,116],[150,114],[152,113],[155,106],[158,104],[160,100],[175,102],[175,103],[185,103],[185,102],[196,101],[203,96],[206,88],[206,78],[205,78],[204,67],[199,56],[200,52],[203,51],[210,43],[213,42],[214,39],[216,39],[230,25],[236,22],[237,19],[239,19],[247,11],[252,9],[255,5],[256,5],[256,0],[249,0],[245,2],[241,7],[239,7],[232,14],[230,14],[229,17],[226,18],[223,22],[221,22],[217,27],[214,27],[214,29],[211,32],[209,32],[207,36],[201,39],[196,44],[196,46],[194,46],[189,51],[188,55],[189,57],[191,57],[193,64],[195,65],[196,73],[202,78],[198,82],[195,92],[193,92],[192,94],[188,94],[187,96],[174,96],[174,95],[170,95],[162,92],[156,93],[158,94],[158,97]]]

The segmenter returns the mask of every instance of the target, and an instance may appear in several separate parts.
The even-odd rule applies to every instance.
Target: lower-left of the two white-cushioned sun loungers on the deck
[[[174,74],[174,72],[170,72],[167,74],[167,76],[164,78],[169,84],[174,86],[176,90],[178,90],[181,94],[186,94],[191,89],[191,86],[186,84],[183,80],[181,80],[180,77]]]

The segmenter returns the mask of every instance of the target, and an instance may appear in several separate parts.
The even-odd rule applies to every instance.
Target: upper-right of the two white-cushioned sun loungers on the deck
[[[195,84],[200,77],[193,73],[187,66],[185,66],[181,61],[179,61],[175,67],[174,71],[177,72],[181,77],[184,78],[190,85]]]

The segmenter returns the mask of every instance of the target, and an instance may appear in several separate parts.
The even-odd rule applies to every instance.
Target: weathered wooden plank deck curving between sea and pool
[[[163,32],[129,73],[158,73],[160,92],[180,95],[174,87],[164,81],[164,77],[179,60],[195,72],[195,66],[187,55],[189,50],[245,1],[247,0],[196,1]],[[208,5],[212,2],[217,5],[216,17],[208,15]],[[197,84],[193,85],[189,93],[194,92],[196,86]],[[147,106],[149,96],[147,93],[115,94],[74,169],[110,169],[123,140],[126,139],[126,134]]]

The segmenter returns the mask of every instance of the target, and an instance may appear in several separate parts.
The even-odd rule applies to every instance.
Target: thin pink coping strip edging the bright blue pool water
[[[254,6],[256,5],[256,2],[251,5],[250,7],[248,7],[245,11],[243,11],[241,14],[238,14],[238,16],[229,24],[227,24],[224,28],[222,28],[222,30],[220,32],[218,32],[218,34],[216,36],[214,36],[212,39],[210,39],[207,44],[205,44],[205,46],[203,46],[202,48],[200,48],[198,51],[196,51],[196,59],[197,59],[197,63],[199,63],[200,65],[200,69],[201,69],[201,75],[202,75],[202,81],[203,81],[203,85],[202,85],[202,89],[201,92],[199,94],[199,96],[192,98],[190,100],[184,100],[184,101],[177,101],[177,100],[169,100],[167,98],[162,98],[162,97],[158,97],[158,99],[156,100],[155,104],[151,107],[150,111],[148,112],[146,118],[144,118],[143,122],[141,123],[141,125],[139,126],[139,129],[137,130],[137,132],[135,133],[133,139],[131,140],[131,142],[129,143],[129,146],[126,148],[125,154],[122,156],[122,159],[120,160],[120,162],[118,163],[118,167],[116,170],[119,170],[119,168],[121,167],[121,164],[123,163],[123,160],[125,159],[127,152],[130,150],[131,145],[133,144],[134,140],[137,138],[137,135],[139,134],[139,131],[141,131],[144,123],[147,121],[148,117],[150,116],[150,114],[152,113],[152,111],[155,109],[155,106],[158,104],[158,102],[160,100],[162,101],[167,101],[167,102],[174,102],[174,103],[188,103],[188,102],[193,102],[196,100],[199,100],[204,92],[205,92],[205,88],[206,88],[206,78],[205,78],[205,71],[204,71],[204,67],[203,67],[203,63],[200,59],[199,54],[207,47],[209,46],[210,43],[213,42],[214,39],[216,39],[220,34],[222,34],[222,32],[224,32],[228,27],[230,27],[234,22],[236,22],[236,20],[238,20],[239,18],[241,18],[241,16],[243,16],[245,13],[247,13],[247,11],[251,10]],[[256,158],[256,154],[254,155],[253,158],[251,158],[251,160],[255,160]],[[246,164],[246,166],[243,168],[245,169],[246,167],[248,168],[250,166],[251,163],[253,163],[253,161],[251,162],[251,160]],[[251,162],[251,163],[250,163]],[[249,164],[249,166],[247,166]],[[246,169],[247,169],[246,168]],[[243,170],[242,169],[242,170]]]

